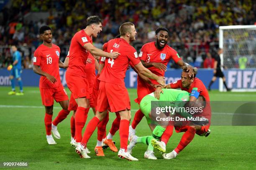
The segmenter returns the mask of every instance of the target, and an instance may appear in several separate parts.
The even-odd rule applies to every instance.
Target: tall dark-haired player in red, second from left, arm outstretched
[[[102,31],[102,20],[98,16],[87,18],[86,28],[78,31],[71,40],[69,47],[69,66],[66,72],[66,82],[69,90],[72,92],[77,102],[77,112],[75,114],[76,142],[82,140],[82,128],[84,120],[87,119],[90,92],[88,80],[86,77],[86,60],[89,52],[92,55],[116,58],[118,52],[104,52],[92,45],[91,37],[97,37]]]

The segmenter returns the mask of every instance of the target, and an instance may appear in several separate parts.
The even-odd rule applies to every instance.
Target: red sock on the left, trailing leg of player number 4
[[[84,146],[87,145],[88,140],[90,139],[92,133],[94,132],[94,130],[96,129],[99,123],[100,123],[100,120],[96,116],[93,117],[92,120],[90,120],[90,122],[87,124],[86,129],[84,131],[81,145],[84,145]]]

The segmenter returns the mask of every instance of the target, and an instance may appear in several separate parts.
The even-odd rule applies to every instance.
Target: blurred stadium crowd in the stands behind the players
[[[24,19],[27,13],[39,11],[49,11],[49,17],[36,22]],[[104,19],[103,31],[94,42],[96,47],[101,48],[118,35],[120,24],[128,21],[136,25],[138,34],[133,46],[139,51],[143,44],[154,40],[154,30],[164,26],[171,32],[169,44],[185,61],[196,67],[211,67],[210,55],[216,54],[218,46],[218,26],[253,25],[256,4],[252,0],[11,0],[11,5],[0,11],[0,67],[11,62],[8,45],[15,44],[23,53],[23,67],[31,68],[42,25],[53,29],[53,43],[59,45],[64,59],[72,36],[84,28],[89,15]]]

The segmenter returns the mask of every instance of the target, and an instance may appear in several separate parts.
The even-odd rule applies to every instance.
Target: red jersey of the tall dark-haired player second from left
[[[78,31],[71,40],[69,47],[69,67],[67,72],[85,76],[85,65],[89,51],[84,49],[84,44],[92,43],[92,38],[84,30]]]

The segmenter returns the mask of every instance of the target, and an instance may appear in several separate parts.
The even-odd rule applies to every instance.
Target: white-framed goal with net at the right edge
[[[228,74],[227,84],[232,91],[256,91],[256,25],[220,26],[219,47],[223,49],[221,65],[228,68],[221,69]],[[222,78],[219,91],[225,91]]]

